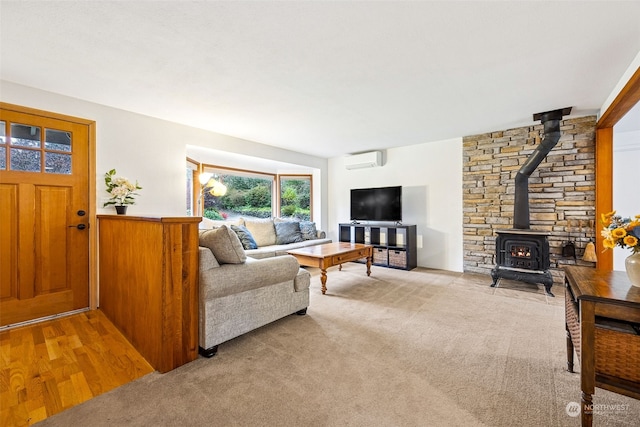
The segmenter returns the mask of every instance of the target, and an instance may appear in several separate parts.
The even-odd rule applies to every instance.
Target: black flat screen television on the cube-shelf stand
[[[402,221],[402,187],[351,190],[352,221]]]

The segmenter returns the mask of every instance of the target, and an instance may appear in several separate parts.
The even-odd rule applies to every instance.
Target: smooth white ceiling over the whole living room
[[[638,1],[5,1],[3,80],[334,157],[595,114]]]

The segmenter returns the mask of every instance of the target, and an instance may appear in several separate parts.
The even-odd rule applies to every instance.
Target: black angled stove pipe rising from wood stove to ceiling
[[[529,177],[560,140],[560,120],[562,120],[563,115],[570,112],[571,108],[565,108],[538,113],[533,116],[534,120],[539,119],[544,125],[544,138],[516,175],[513,205],[513,227],[516,229],[528,230],[530,228]]]

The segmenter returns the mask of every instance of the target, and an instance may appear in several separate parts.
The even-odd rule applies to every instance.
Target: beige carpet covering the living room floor
[[[312,270],[289,316],[55,415],[51,426],[578,426],[562,288],[360,264]],[[513,284],[514,288],[520,285]],[[578,366],[576,366],[576,370]],[[640,402],[597,389],[596,426],[637,426]],[[608,406],[605,406],[608,405]]]

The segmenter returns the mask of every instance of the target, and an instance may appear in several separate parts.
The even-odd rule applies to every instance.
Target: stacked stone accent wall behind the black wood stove
[[[529,178],[531,229],[552,233],[554,281],[563,280],[558,270],[563,264],[593,266],[581,258],[585,245],[595,240],[599,230],[595,129],[596,116],[563,120],[558,144]],[[537,124],[463,138],[465,272],[489,274],[494,267],[495,231],[513,228],[515,176],[544,137],[543,130]],[[577,261],[562,257],[568,241],[576,245]]]

